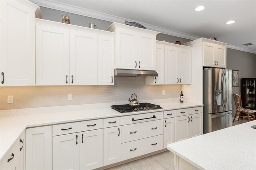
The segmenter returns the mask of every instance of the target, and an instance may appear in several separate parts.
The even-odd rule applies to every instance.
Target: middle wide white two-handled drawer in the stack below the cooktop
[[[130,142],[142,138],[148,138],[163,134],[163,121],[149,121],[122,126],[121,141]]]

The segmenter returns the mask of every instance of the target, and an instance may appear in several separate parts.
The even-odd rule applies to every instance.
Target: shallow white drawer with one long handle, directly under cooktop
[[[158,119],[163,119],[163,112],[153,112],[139,115],[124,116],[121,117],[121,124],[128,125],[147,121],[155,121]]]

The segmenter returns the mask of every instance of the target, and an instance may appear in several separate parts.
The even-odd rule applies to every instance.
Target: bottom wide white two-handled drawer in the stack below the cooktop
[[[121,160],[163,149],[163,135],[153,136],[121,144]]]

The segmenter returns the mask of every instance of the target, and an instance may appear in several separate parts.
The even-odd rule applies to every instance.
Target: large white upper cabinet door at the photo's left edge
[[[35,85],[35,11],[6,0],[0,2],[0,12],[0,85]]]

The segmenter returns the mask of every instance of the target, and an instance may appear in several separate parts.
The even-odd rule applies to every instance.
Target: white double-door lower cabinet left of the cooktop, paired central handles
[[[53,169],[95,169],[103,166],[102,129],[53,137]]]

